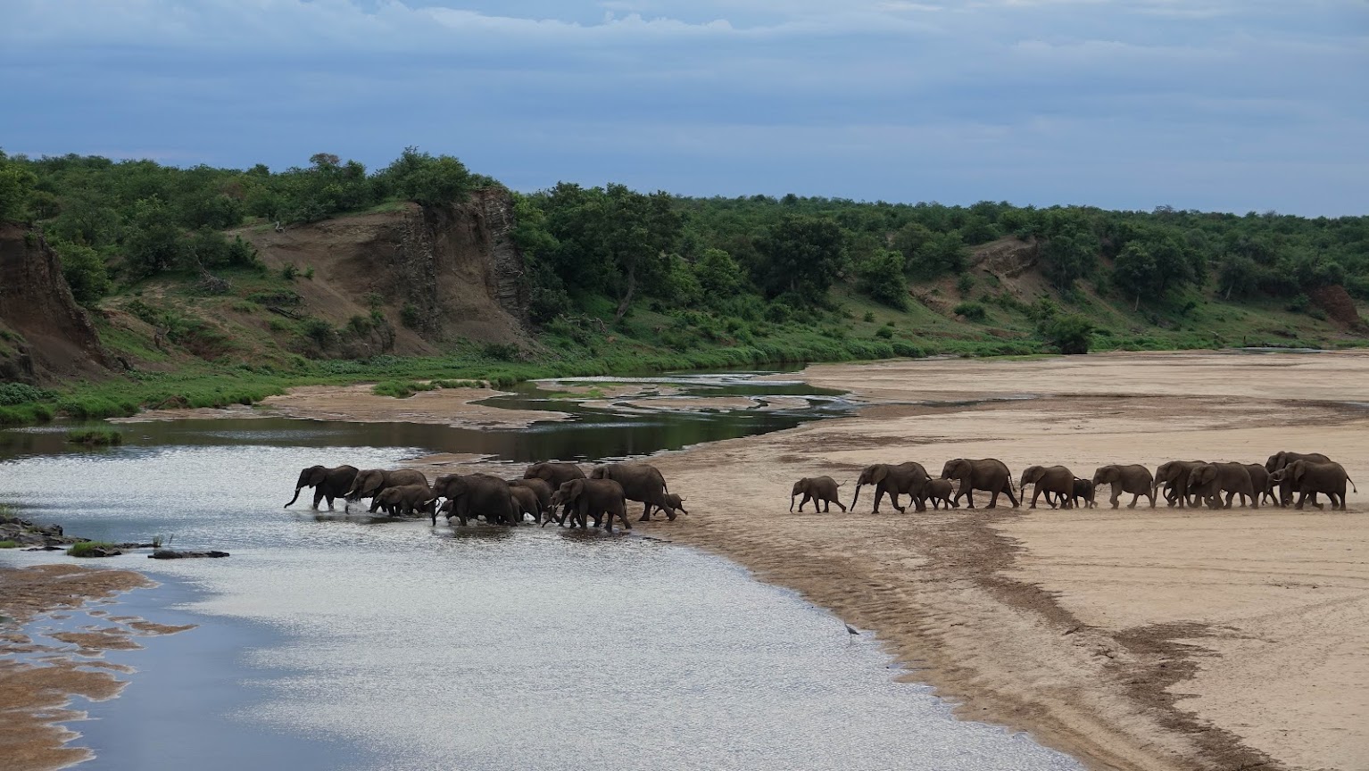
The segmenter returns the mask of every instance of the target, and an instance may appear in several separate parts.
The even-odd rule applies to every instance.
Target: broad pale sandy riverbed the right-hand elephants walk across
[[[965,718],[1097,768],[1369,766],[1369,518],[1280,508],[789,514],[868,463],[1020,471],[1325,452],[1369,479],[1369,356],[1106,355],[819,366],[857,418],[653,459],[691,511],[641,527],[872,630]],[[1039,396],[1040,399],[1025,399]],[[953,401],[953,403],[945,403]],[[999,400],[999,401],[994,401]],[[934,404],[934,401],[943,401]],[[887,505],[887,504],[886,504]],[[980,493],[980,505],[984,496]]]

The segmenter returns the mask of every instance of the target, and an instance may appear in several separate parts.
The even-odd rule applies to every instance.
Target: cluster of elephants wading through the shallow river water
[[[612,533],[616,518],[623,529],[631,530],[627,501],[642,504],[638,522],[650,520],[654,511],[664,511],[671,520],[679,514],[689,514],[680,496],[667,488],[660,470],[648,463],[596,466],[587,477],[574,463],[534,463],[516,479],[493,474],[445,474],[431,485],[427,477],[412,468],[359,471],[352,466],[311,466],[300,471],[294,497],[285,504],[286,508],[300,498],[304,488],[314,489],[314,508],[319,508],[323,500],[331,511],[337,498],[348,504],[371,498],[372,514],[427,515],[433,524],[442,514],[448,523],[455,516],[463,527],[478,518],[485,518],[489,524],[520,524],[527,516],[543,526],[548,522],[559,526],[570,522],[571,527],[587,527],[593,518],[596,527],[606,526]]]

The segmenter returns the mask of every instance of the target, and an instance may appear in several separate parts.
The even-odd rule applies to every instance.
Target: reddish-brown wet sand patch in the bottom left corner
[[[56,646],[18,631],[19,624],[42,616],[67,618],[56,611],[152,585],[126,570],[70,564],[0,568],[0,614],[12,619],[0,624],[0,759],[5,771],[45,771],[92,757],[88,749],[66,746],[78,734],[59,723],[82,716],[67,707],[73,696],[101,701],[114,698],[126,685],[115,672],[130,670],[97,660],[101,653],[141,648],[134,637],[190,629],[134,618],[115,619],[92,611],[89,615],[101,618],[101,626],[47,635],[67,644]],[[7,653],[42,655],[42,664],[3,657]]]

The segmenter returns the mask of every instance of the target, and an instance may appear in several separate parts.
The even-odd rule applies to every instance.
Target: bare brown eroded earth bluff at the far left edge
[[[37,233],[0,225],[0,381],[60,382],[108,370],[57,255]]]

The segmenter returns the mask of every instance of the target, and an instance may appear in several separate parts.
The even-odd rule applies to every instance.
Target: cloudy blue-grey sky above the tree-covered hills
[[[1362,0],[0,0],[0,149],[1369,214]]]

